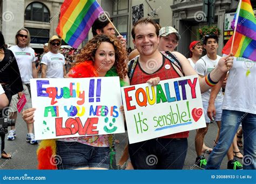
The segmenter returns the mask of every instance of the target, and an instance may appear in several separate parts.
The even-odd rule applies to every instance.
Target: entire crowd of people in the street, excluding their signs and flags
[[[9,99],[9,103],[5,103],[6,97],[0,87],[0,98],[4,98],[0,107],[10,106],[10,118],[17,118],[17,101],[23,94],[31,101],[29,79],[37,78],[40,72],[42,78],[108,77],[111,72],[111,76],[119,76],[121,86],[143,83],[155,86],[160,80],[198,74],[206,127],[198,129],[196,133],[197,158],[194,166],[200,169],[219,169],[227,155],[227,169],[256,168],[256,67],[251,60],[235,58],[232,53],[218,56],[218,35],[206,35],[203,42],[193,41],[188,48],[190,58],[187,59],[175,51],[182,39],[179,32],[171,26],[160,28],[147,18],[139,19],[133,25],[134,50],[126,48],[126,40],[122,36],[116,36],[109,21],[102,22],[97,19],[92,25],[92,33],[93,38],[81,50],[61,48],[62,39],[52,36],[44,44],[44,53],[37,59],[35,52],[29,47],[30,35],[27,29],[22,28],[17,32],[15,46],[9,50],[1,47],[0,60],[4,61],[5,56],[10,55],[6,62],[12,58],[14,67],[8,68],[15,70],[17,74],[17,80],[13,81],[13,76],[8,76],[9,72],[0,73],[1,85]],[[0,39],[1,44],[4,44],[3,36]],[[206,51],[205,56],[201,56],[203,49]],[[147,67],[152,59],[156,61],[156,67]],[[0,62],[3,67],[1,64]],[[244,65],[250,66],[249,75],[244,73]],[[28,102],[22,112],[28,125],[26,141],[30,144],[37,144],[33,134],[35,111]],[[123,107],[120,107],[120,112],[124,114]],[[213,149],[210,148],[211,145],[204,143],[208,125],[212,122],[218,125]],[[240,124],[242,129],[236,134]],[[241,140],[242,135],[244,142]],[[62,160],[57,169],[182,169],[186,159],[188,136],[189,132],[185,131],[127,144],[118,163],[114,154],[111,158],[106,157],[115,151],[114,135],[43,140],[38,148],[38,162],[39,165],[41,162],[51,165],[49,159],[52,155],[41,154],[45,152],[44,146],[51,142],[55,149],[52,153],[59,155]],[[12,126],[7,140],[15,140],[15,137],[16,129]],[[4,151],[4,134],[1,134],[1,139],[2,158],[10,159],[10,154]],[[244,155],[251,156],[250,164],[242,165],[235,159],[243,158],[239,147],[244,147]],[[149,165],[146,161],[147,156],[152,154],[157,155],[156,165]],[[210,154],[208,161],[205,154]],[[39,168],[52,167],[44,164],[44,167]]]

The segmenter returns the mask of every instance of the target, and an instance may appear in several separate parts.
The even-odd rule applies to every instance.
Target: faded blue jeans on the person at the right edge
[[[219,169],[230,148],[238,126],[242,123],[244,134],[244,169],[256,169],[256,114],[223,110],[218,144],[207,161],[207,169]]]

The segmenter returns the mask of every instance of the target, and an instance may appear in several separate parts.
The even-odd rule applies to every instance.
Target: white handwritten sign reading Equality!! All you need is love
[[[124,133],[119,77],[31,79],[37,140]]]

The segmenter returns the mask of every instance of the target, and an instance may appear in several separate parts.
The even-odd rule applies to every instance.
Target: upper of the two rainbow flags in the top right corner
[[[237,22],[235,22],[237,14],[238,18]],[[235,13],[231,24],[233,30],[235,25],[237,25],[237,32],[256,40],[256,18],[254,16],[250,0],[241,1],[240,9],[238,7],[237,13]]]

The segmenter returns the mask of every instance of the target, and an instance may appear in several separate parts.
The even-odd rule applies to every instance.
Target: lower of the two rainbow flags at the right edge
[[[230,54],[233,36],[223,47],[222,53]],[[236,32],[232,52],[235,57],[243,57],[256,61],[256,40]]]

